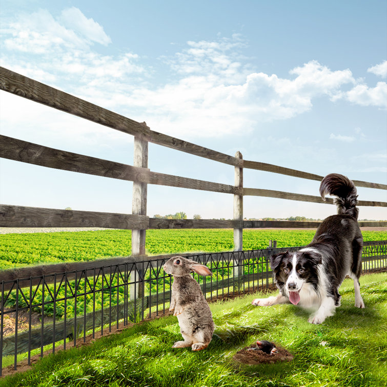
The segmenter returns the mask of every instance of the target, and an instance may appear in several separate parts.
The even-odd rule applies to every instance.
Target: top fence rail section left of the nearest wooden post
[[[0,89],[132,135],[149,133],[140,123],[0,67]]]

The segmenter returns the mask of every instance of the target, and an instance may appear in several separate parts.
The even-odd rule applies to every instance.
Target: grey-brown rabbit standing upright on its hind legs
[[[215,325],[206,298],[191,273],[211,275],[211,270],[191,259],[172,257],[165,263],[164,271],[173,275],[169,310],[177,316],[180,333],[184,338],[184,341],[176,341],[172,348],[192,347],[192,351],[207,348]]]

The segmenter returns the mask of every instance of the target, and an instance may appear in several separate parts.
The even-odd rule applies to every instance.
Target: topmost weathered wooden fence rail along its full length
[[[83,99],[74,97],[4,67],[0,67],[0,89],[36,101],[40,104],[74,114],[78,117],[89,119],[97,124],[101,124],[134,136],[139,136],[152,142],[153,144],[162,145],[181,152],[208,158],[214,161],[222,162],[223,164],[317,181],[321,181],[323,178],[323,176],[313,173],[279,167],[264,162],[242,160],[225,153],[192,144],[191,142],[185,140],[152,131],[145,125],[145,123],[138,123],[130,118],[91,104]],[[387,189],[387,185],[385,184],[359,180],[353,180],[353,182],[357,187],[377,188],[383,190]]]

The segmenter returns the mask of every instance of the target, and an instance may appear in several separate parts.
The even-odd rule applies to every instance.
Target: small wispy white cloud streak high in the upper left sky
[[[73,31],[79,32],[88,40],[107,46],[112,43],[104,28],[92,18],[88,19],[78,8],[64,9],[60,20]]]

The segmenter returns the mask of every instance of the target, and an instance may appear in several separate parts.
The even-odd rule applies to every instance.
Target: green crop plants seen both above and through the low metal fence
[[[269,239],[277,240],[277,247],[292,247],[307,245],[313,238],[313,230],[244,230],[243,231],[243,249],[264,249],[269,245]],[[387,239],[387,232],[365,231],[363,232],[364,240],[383,240]],[[111,256],[127,256],[130,255],[131,249],[131,232],[128,230],[105,230],[105,231],[85,231],[85,232],[58,232],[58,233],[32,233],[32,234],[4,234],[0,236],[0,269],[10,269],[15,267],[23,267],[28,264],[54,263],[64,261],[82,261],[94,260],[97,258]],[[217,252],[233,250],[233,231],[232,230],[148,230],[146,248],[148,254],[168,254],[182,252]],[[232,263],[231,263],[232,265]],[[211,269],[214,269],[211,267]],[[250,264],[243,268],[243,274],[252,274],[266,271],[266,264],[259,263]],[[221,267],[213,270],[212,277],[200,277],[200,282],[205,280],[221,280],[233,275],[232,267]],[[152,276],[154,276],[152,274]],[[90,281],[90,279],[89,279]],[[96,283],[95,305],[104,304],[104,308],[110,305],[114,306],[118,302],[124,300],[124,287],[114,288],[119,281],[116,274],[111,278],[112,292],[104,286],[104,292],[101,292],[101,279]],[[122,280],[120,280],[122,284]],[[240,284],[239,284],[240,286]],[[74,281],[70,281],[67,287],[67,297],[71,296],[71,291],[75,291]],[[150,278],[149,271],[145,275],[145,294],[151,291],[153,294],[161,289],[166,291],[170,287],[170,277],[165,278]],[[238,287],[238,284],[234,284]],[[52,297],[53,284],[45,289],[45,306],[44,314],[56,318],[63,318],[65,315],[64,302],[57,302],[54,311]],[[36,288],[35,288],[36,289]],[[35,292],[33,289],[33,292]],[[88,288],[86,293],[91,289]],[[28,290],[24,289],[28,298]],[[57,292],[57,299],[65,297],[65,286]],[[77,293],[80,295],[77,299],[76,310],[77,314],[83,314],[93,310],[93,296],[86,294],[85,281],[82,279],[78,284]],[[104,299],[102,300],[102,294]],[[111,300],[110,300],[111,297]],[[34,298],[34,303],[41,303],[43,299],[42,286],[40,286]],[[18,306],[26,307],[26,300],[19,292]],[[16,291],[13,290],[6,302],[6,307],[14,307],[16,305]],[[99,308],[99,306],[98,306]],[[74,316],[75,301],[68,299],[66,305],[66,315],[68,318]],[[42,306],[33,307],[33,311],[42,313]]]

